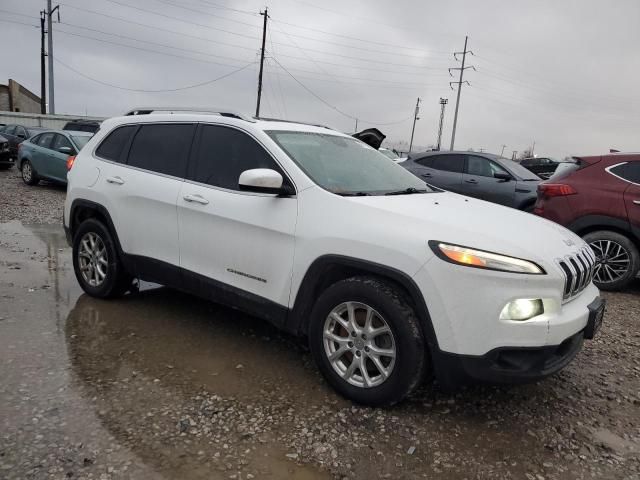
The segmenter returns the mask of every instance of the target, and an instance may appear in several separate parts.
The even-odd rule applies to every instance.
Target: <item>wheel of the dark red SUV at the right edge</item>
[[[640,253],[628,237],[618,232],[599,230],[583,238],[596,254],[596,265],[600,265],[593,277],[593,283],[599,289],[622,290],[636,278],[640,270]]]

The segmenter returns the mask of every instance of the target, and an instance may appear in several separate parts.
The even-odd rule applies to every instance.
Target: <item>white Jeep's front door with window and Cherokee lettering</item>
[[[227,300],[239,295],[249,310],[263,300],[265,309],[272,302],[286,307],[298,202],[295,196],[240,191],[240,174],[253,168],[276,170],[290,183],[249,134],[222,125],[199,127],[178,197],[180,265],[196,290],[224,291],[231,295]]]

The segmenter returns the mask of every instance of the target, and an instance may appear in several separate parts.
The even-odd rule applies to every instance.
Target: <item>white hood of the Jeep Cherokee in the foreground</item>
[[[586,245],[573,232],[544,218],[455,193],[352,198],[389,212],[393,228],[412,234],[417,228],[425,241],[439,240],[533,260],[545,269],[556,258]],[[407,222],[410,227],[403,227]]]

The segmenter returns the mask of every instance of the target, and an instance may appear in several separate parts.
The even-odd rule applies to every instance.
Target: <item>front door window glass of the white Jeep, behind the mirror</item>
[[[238,190],[240,174],[252,168],[270,168],[286,179],[265,149],[235,128],[203,125],[193,159],[189,178],[214,187]]]

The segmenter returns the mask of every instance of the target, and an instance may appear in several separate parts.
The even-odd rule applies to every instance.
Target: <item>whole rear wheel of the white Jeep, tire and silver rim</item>
[[[124,295],[133,281],[118,256],[113,236],[93,218],[82,222],[73,237],[73,270],[82,289],[97,298]]]

